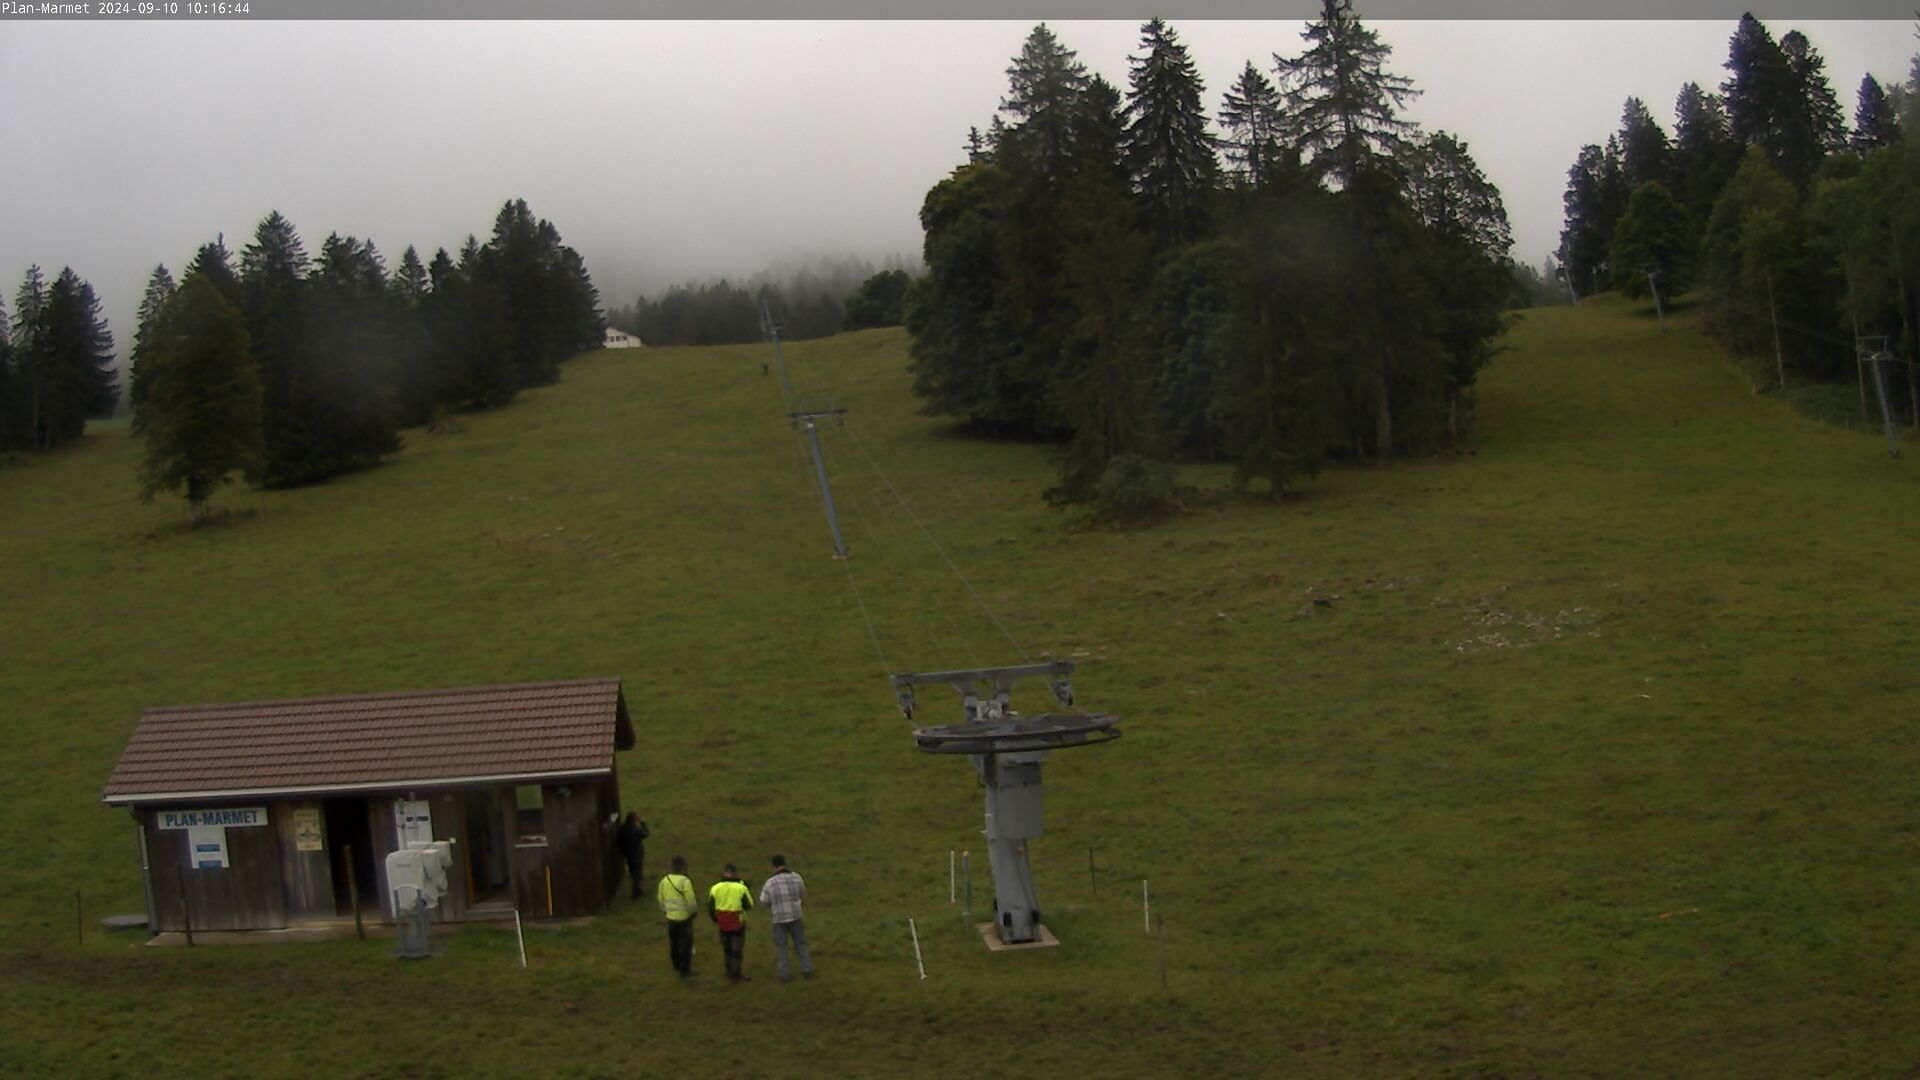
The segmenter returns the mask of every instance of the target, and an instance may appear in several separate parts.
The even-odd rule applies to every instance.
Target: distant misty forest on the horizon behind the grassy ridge
[[[768,321],[785,340],[824,338],[900,325],[906,279],[904,269],[876,273],[866,259],[841,259],[785,275],[760,273],[745,282],[689,281],[607,311],[607,323],[651,346],[758,342],[770,332]]]

